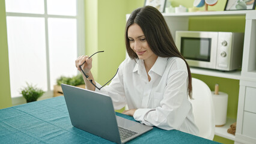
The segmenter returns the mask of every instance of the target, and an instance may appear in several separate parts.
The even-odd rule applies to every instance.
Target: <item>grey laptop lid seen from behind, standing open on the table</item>
[[[111,97],[65,84],[61,88],[74,127],[121,143]]]

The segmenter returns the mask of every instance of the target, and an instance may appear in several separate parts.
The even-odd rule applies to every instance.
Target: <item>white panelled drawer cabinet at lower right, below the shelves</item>
[[[256,142],[255,102],[256,82],[253,80],[240,80],[236,143]]]

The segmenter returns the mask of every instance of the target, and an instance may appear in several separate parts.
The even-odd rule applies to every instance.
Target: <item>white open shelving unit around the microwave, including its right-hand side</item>
[[[195,13],[163,14],[171,34],[189,29],[189,17],[195,16],[245,16],[245,40],[241,71],[221,72],[191,68],[195,74],[240,80],[237,119],[229,120],[225,127],[216,128],[215,134],[234,140],[235,143],[256,143],[256,10],[248,11],[207,11]],[[227,128],[237,121],[236,136],[227,133]]]

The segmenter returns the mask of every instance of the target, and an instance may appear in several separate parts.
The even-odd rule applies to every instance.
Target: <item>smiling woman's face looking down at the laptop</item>
[[[141,27],[133,23],[127,30],[127,35],[130,41],[130,47],[138,55],[139,59],[145,60],[156,60],[157,56],[152,52],[148,46],[145,35]]]

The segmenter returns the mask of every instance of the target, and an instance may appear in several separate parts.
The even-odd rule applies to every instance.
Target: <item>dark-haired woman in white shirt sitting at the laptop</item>
[[[92,58],[76,60],[89,77],[84,77],[87,89],[102,92],[112,98],[115,109],[127,106],[126,115],[136,121],[165,130],[180,130],[198,134],[194,124],[191,74],[187,62],[178,52],[162,14],[146,6],[133,11],[126,23],[126,50],[130,58],[119,67],[112,82],[98,90],[91,73]],[[96,86],[100,87],[99,83]]]

